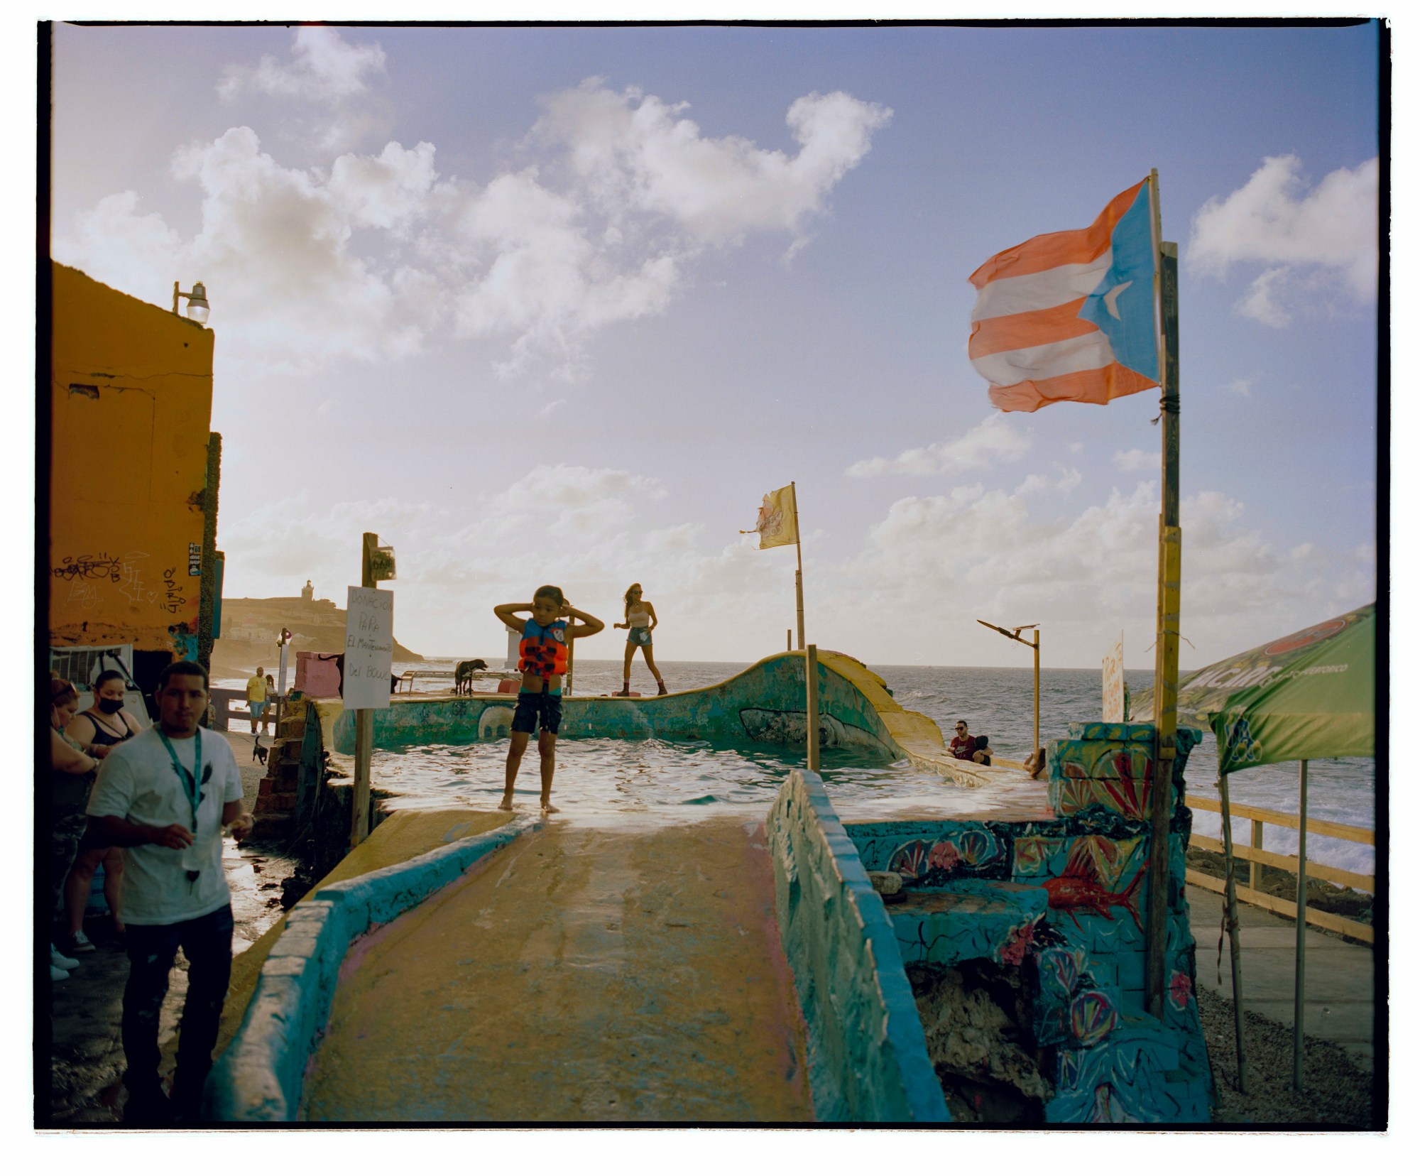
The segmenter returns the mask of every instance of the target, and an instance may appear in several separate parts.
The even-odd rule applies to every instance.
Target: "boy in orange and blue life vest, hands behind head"
[[[542,770],[542,811],[557,812],[552,805],[552,771],[557,768],[557,729],[562,723],[562,675],[567,673],[567,642],[569,638],[591,636],[606,628],[601,621],[572,608],[561,588],[544,584],[532,594],[532,604],[497,605],[493,612],[510,629],[521,629],[518,669],[523,686],[518,706],[513,712],[513,737],[508,743],[508,764],[504,773],[503,802],[498,808],[513,810],[513,783],[527,751],[532,731]],[[524,621],[518,612],[531,612]],[[581,621],[568,625],[567,619]]]

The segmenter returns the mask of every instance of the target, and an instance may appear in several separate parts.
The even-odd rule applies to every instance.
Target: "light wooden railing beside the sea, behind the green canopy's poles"
[[[1220,815],[1223,812],[1223,804],[1216,797],[1200,797],[1190,793],[1184,797],[1184,804],[1187,804],[1189,808],[1201,808],[1207,812],[1217,812]],[[1233,856],[1248,862],[1248,885],[1244,886],[1241,885],[1241,878],[1237,879],[1235,889],[1238,899],[1241,902],[1252,903],[1254,906],[1261,906],[1264,910],[1271,910],[1274,915],[1285,915],[1295,919],[1295,900],[1279,899],[1275,895],[1264,893],[1258,888],[1262,882],[1262,866],[1285,869],[1288,873],[1294,875],[1296,873],[1296,858],[1289,858],[1282,854],[1271,854],[1262,848],[1262,825],[1281,825],[1284,828],[1296,829],[1301,828],[1301,818],[1295,812],[1274,812],[1269,808],[1255,808],[1250,804],[1231,804],[1228,807],[1231,808],[1234,818],[1242,817],[1252,822],[1252,844],[1234,844],[1233,846]],[[1306,818],[1306,832],[1316,834],[1319,837],[1335,837],[1342,841],[1355,841],[1360,845],[1376,844],[1376,834],[1373,829],[1363,829],[1358,825],[1342,825],[1336,821],[1318,821],[1312,817]],[[1223,854],[1223,842],[1216,837],[1201,837],[1194,834],[1190,839],[1190,845],[1194,845],[1198,849],[1211,849],[1214,854]],[[1194,886],[1213,891],[1216,895],[1221,895],[1224,891],[1224,882],[1221,878],[1214,878],[1211,873],[1203,873],[1197,869],[1189,869],[1184,871],[1184,873],[1187,881]],[[1350,886],[1358,891],[1366,891],[1372,895],[1376,892],[1376,876],[1373,873],[1355,873],[1349,869],[1322,865],[1321,862],[1311,861],[1311,855],[1308,855],[1306,861],[1306,876],[1321,878],[1326,882],[1336,882],[1340,886]],[[1362,943],[1375,944],[1376,942],[1376,932],[1370,923],[1358,923],[1355,919],[1343,919],[1340,915],[1331,915],[1325,910],[1311,909],[1306,910],[1306,922],[1311,926],[1336,932]]]

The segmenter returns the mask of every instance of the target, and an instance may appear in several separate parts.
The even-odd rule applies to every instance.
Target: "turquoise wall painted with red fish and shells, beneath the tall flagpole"
[[[1071,739],[1052,741],[1052,821],[846,825],[863,866],[900,873],[912,896],[892,908],[903,960],[987,959],[1034,974],[1031,1045],[1048,1052],[1047,1122],[1210,1121],[1184,885],[1183,767],[1198,739],[1179,731],[1162,1020],[1145,1011],[1153,727],[1072,724]]]

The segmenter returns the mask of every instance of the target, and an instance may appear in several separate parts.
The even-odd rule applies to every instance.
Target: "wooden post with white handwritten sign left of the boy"
[[[395,578],[395,552],[365,533],[361,587],[346,588],[345,675],[341,697],[355,712],[355,797],[351,848],[369,834],[369,758],[375,743],[375,710],[389,707],[389,672],[395,658],[395,594],[375,585]]]

